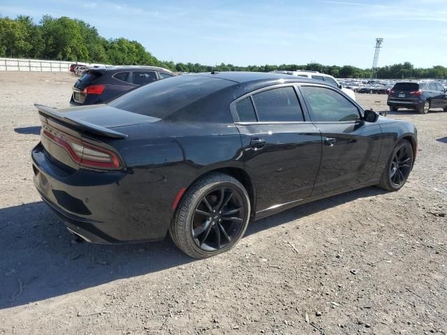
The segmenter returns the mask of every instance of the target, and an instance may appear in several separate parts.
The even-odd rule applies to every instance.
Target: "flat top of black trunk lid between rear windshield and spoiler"
[[[160,120],[156,117],[119,110],[108,105],[69,107],[57,109],[56,111],[67,119],[85,121],[104,128],[150,124]]]

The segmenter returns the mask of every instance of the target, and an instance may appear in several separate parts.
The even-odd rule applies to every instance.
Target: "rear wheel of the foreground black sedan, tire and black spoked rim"
[[[180,201],[170,224],[170,236],[193,258],[218,255],[242,238],[250,210],[247,190],[237,179],[223,173],[207,174]]]

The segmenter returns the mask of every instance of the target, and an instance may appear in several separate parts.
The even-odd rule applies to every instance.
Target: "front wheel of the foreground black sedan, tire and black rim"
[[[399,158],[400,154],[402,154],[402,158]],[[383,170],[379,187],[387,191],[400,190],[404,186],[406,179],[408,179],[411,168],[413,168],[413,160],[413,147],[407,140],[401,140],[397,143],[388,159],[388,164],[385,170]]]

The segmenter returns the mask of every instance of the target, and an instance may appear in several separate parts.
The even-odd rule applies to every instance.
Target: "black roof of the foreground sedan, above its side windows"
[[[224,80],[231,80],[233,82],[244,83],[254,81],[271,81],[271,80],[287,80],[288,82],[318,82],[323,84],[319,80],[314,80],[308,77],[295,77],[292,75],[286,75],[284,73],[265,73],[265,72],[237,72],[237,71],[223,71],[223,72],[207,72],[207,73],[190,73],[188,75],[201,75],[207,77],[215,77]]]

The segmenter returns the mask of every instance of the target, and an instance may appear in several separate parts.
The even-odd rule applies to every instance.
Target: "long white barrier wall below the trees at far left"
[[[0,71],[68,72],[75,61],[47,61],[41,59],[0,58]],[[81,65],[88,63],[78,62]]]

